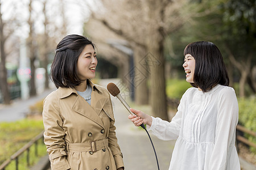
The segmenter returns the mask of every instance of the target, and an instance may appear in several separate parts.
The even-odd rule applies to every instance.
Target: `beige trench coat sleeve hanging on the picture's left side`
[[[50,97],[49,97],[50,98]],[[64,130],[61,128],[63,121],[59,115],[56,100],[48,97],[44,100],[43,123],[44,123],[44,143],[47,147],[51,169],[71,168],[65,158]]]

